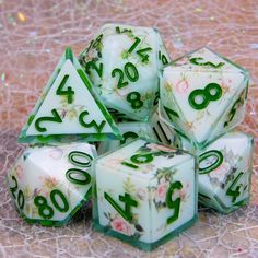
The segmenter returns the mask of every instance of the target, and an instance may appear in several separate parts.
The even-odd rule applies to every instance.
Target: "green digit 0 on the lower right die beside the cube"
[[[199,164],[201,164],[202,161],[204,161],[204,160],[207,160],[211,156],[215,157],[216,160],[211,165],[209,165],[207,167],[203,167],[203,168],[199,167],[199,174],[200,175],[208,174],[208,173],[214,171],[216,167],[219,167],[222,164],[223,154],[220,151],[216,151],[216,150],[211,150],[211,151],[202,153],[199,156]]]

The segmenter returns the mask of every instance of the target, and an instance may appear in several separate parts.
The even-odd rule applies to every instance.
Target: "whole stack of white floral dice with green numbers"
[[[19,213],[62,226],[92,198],[95,230],[151,250],[196,222],[198,201],[236,210],[250,195],[253,138],[232,131],[247,90],[248,72],[208,48],[172,62],[156,30],[104,25],[79,60],[66,49],[20,133]]]

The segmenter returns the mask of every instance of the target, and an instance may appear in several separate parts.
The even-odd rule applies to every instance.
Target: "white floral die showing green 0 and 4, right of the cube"
[[[253,138],[228,132],[199,155],[199,201],[223,213],[249,200]]]

